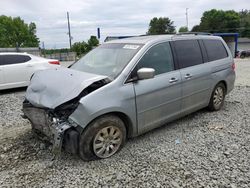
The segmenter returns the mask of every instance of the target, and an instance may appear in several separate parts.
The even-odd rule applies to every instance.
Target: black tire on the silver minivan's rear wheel
[[[217,95],[216,93],[218,93],[218,91],[222,91],[223,93],[222,93],[221,97],[219,97],[220,100],[215,100],[216,95]],[[212,92],[212,95],[211,95],[211,98],[209,101],[209,105],[208,105],[208,109],[210,111],[220,110],[222,108],[222,106],[224,105],[225,96],[226,96],[226,87],[222,82],[220,82],[215,86],[215,88]],[[216,101],[218,101],[218,102],[216,102]]]

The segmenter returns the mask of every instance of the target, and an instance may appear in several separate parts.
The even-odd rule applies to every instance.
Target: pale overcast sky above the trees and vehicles
[[[250,9],[250,0],[0,0],[0,15],[35,22],[46,48],[69,47],[66,12],[70,13],[73,42],[87,40],[101,28],[101,41],[111,35],[145,34],[153,17],[169,17],[177,30],[199,24],[204,11]]]

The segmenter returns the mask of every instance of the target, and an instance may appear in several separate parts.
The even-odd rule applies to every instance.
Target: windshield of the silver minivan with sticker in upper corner
[[[141,44],[102,44],[79,59],[70,68],[114,79],[141,46]]]

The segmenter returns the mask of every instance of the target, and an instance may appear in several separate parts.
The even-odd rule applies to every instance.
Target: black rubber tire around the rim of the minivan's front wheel
[[[79,155],[84,161],[90,161],[95,160],[99,158],[108,158],[108,157],[100,157],[96,155],[96,150],[94,151],[94,140],[98,135],[101,135],[100,131],[107,130],[110,127],[114,127],[115,131],[119,130],[119,134],[121,133],[121,138],[119,140],[119,147],[117,146],[117,150],[111,154],[110,156],[117,153],[125,144],[126,141],[126,128],[124,125],[124,122],[115,115],[104,115],[100,118],[97,118],[92,123],[88,125],[86,130],[83,131],[83,133],[80,136],[79,139]],[[109,133],[111,130],[109,130]],[[109,138],[110,139],[110,138]],[[96,140],[95,140],[96,141]],[[104,141],[102,141],[103,143]],[[108,143],[105,143],[108,144]],[[109,141],[109,144],[111,144],[111,141]],[[112,145],[112,144],[111,144]],[[118,145],[118,144],[117,144]],[[114,145],[113,145],[114,146]],[[105,146],[102,146],[102,148],[105,148]],[[107,147],[107,146],[106,146]],[[111,149],[112,150],[112,149]],[[112,153],[112,152],[111,152]]]

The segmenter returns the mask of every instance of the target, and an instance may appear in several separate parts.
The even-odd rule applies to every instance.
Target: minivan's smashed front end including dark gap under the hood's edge
[[[83,128],[69,119],[69,116],[77,109],[82,97],[96,89],[106,85],[111,80],[103,78],[84,88],[77,97],[58,105],[55,108],[44,104],[32,104],[32,98],[27,97],[23,102],[24,118],[29,119],[33,131],[42,139],[53,144],[53,153],[59,155],[62,147],[67,152],[76,154],[79,148],[79,135]],[[32,84],[29,86],[32,87]],[[28,90],[32,88],[28,88]],[[39,96],[43,97],[43,96]],[[46,96],[48,98],[48,96]],[[30,99],[30,100],[28,100]],[[37,99],[37,98],[35,98]]]

